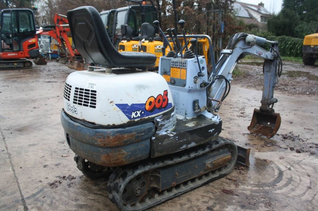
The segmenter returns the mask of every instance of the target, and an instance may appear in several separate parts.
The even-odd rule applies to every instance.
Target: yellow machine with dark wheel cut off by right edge
[[[314,65],[318,57],[318,27],[315,34],[306,35],[302,46],[302,61]]]

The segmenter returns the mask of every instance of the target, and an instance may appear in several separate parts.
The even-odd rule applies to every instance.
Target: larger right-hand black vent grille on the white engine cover
[[[75,87],[73,103],[96,109],[96,90]]]

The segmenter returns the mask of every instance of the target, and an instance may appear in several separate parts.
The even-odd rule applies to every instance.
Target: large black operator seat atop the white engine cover
[[[157,57],[142,52],[118,52],[98,11],[91,6],[67,11],[73,43],[87,63],[106,67],[151,67]]]

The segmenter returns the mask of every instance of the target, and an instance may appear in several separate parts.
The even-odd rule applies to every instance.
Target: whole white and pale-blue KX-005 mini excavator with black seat
[[[141,70],[154,65],[155,55],[114,48],[95,8],[70,10],[67,18],[76,49],[92,66],[66,79],[61,111],[66,142],[84,175],[108,178],[109,199],[120,210],[148,209],[228,174],[237,161],[249,165],[249,149],[219,136],[223,120],[215,114],[245,55],[265,60],[262,105],[254,110],[250,131],[267,137],[277,132],[278,42],[235,34],[208,74],[196,51],[200,36],[194,35],[192,50],[170,50],[160,58],[157,74]],[[154,25],[163,34],[158,21]]]

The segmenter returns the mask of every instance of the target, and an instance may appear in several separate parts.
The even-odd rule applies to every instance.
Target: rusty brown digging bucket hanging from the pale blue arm
[[[279,113],[269,113],[254,109],[251,124],[247,129],[250,133],[265,135],[267,138],[271,138],[280,128],[280,122]]]

